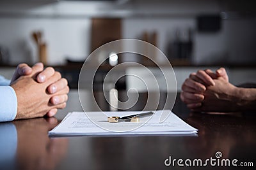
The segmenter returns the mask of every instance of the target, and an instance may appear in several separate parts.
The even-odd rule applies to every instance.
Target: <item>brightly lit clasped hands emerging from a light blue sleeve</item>
[[[17,96],[17,115],[15,119],[52,117],[58,109],[66,106],[68,82],[52,67],[36,63],[33,67],[19,64],[10,86]]]

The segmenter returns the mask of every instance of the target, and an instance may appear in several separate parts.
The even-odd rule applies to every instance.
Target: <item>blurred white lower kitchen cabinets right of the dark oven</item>
[[[175,72],[175,76],[176,76],[176,81],[177,81],[177,91],[181,90],[181,86],[182,83],[186,80],[186,78],[189,77],[190,73],[196,72],[198,71],[198,69],[212,69],[213,71],[218,69],[218,66],[204,66],[204,67],[197,67],[197,66],[186,66],[186,67],[173,67],[173,70]],[[161,85],[164,85],[164,78],[163,76],[159,76],[161,75],[161,73],[159,73],[159,70],[157,70],[154,67],[150,67],[149,68],[150,71],[152,71],[152,73],[154,74],[154,76],[156,77],[157,81],[159,82],[159,88],[161,90],[168,90],[170,92],[175,90],[175,85],[173,83],[173,85],[171,87],[168,87],[168,89],[166,89],[166,87],[161,87]],[[225,69],[227,70],[228,73],[228,77],[229,77],[229,81],[230,83],[234,84],[234,85],[241,85],[243,83],[256,83],[256,68],[255,67],[250,67],[250,68],[244,68],[244,67],[225,67]],[[163,69],[163,71],[167,71],[168,69]],[[140,68],[129,68],[128,69],[128,73],[129,74],[136,74],[140,77],[143,78],[149,78],[150,76],[145,73],[145,71],[143,69]],[[152,80],[153,81],[153,80]],[[127,89],[130,88],[135,88],[138,89],[139,92],[145,92],[147,91],[147,89],[145,89],[145,85],[143,85],[140,81],[138,81],[138,79],[136,80],[136,78],[128,78],[127,79]],[[154,89],[151,85],[148,85],[147,87],[149,90],[156,90]]]

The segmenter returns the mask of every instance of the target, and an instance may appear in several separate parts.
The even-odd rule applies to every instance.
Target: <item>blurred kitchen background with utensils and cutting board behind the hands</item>
[[[70,87],[77,89],[86,57],[100,45],[122,38],[142,39],[162,50],[173,65],[179,91],[189,73],[220,66],[227,68],[230,81],[236,85],[256,83],[253,1],[0,1],[0,71],[7,78],[20,62],[42,61],[61,71]],[[141,62],[157,75],[157,69],[143,58],[118,58],[119,63],[125,61]],[[100,89],[110,68],[108,62],[100,67],[95,78],[99,86],[95,88]],[[140,73],[133,67],[123,70],[134,71]],[[131,81],[124,78],[116,88],[136,87]]]

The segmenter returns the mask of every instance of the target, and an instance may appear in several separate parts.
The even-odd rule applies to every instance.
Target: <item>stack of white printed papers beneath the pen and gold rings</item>
[[[163,111],[170,112],[169,117],[163,122],[159,123],[159,118]],[[85,136],[116,136],[116,135],[158,135],[158,134],[196,134],[198,129],[195,129],[189,124],[186,124],[183,120],[177,117],[170,110],[159,110],[154,113],[154,115],[146,123],[140,122],[118,122],[109,123],[107,121],[108,116],[125,116],[133,115],[140,111],[106,111],[104,120],[99,121],[98,125],[93,124],[93,122],[86,116],[84,112],[72,112],[62,120],[62,122],[57,125],[52,131],[49,132],[50,136],[72,136],[72,135],[85,135]],[[97,117],[100,112],[90,112]],[[100,120],[100,119],[99,119]],[[116,126],[116,127],[138,127],[132,131],[126,132],[111,132],[99,127],[102,124],[104,127]]]

